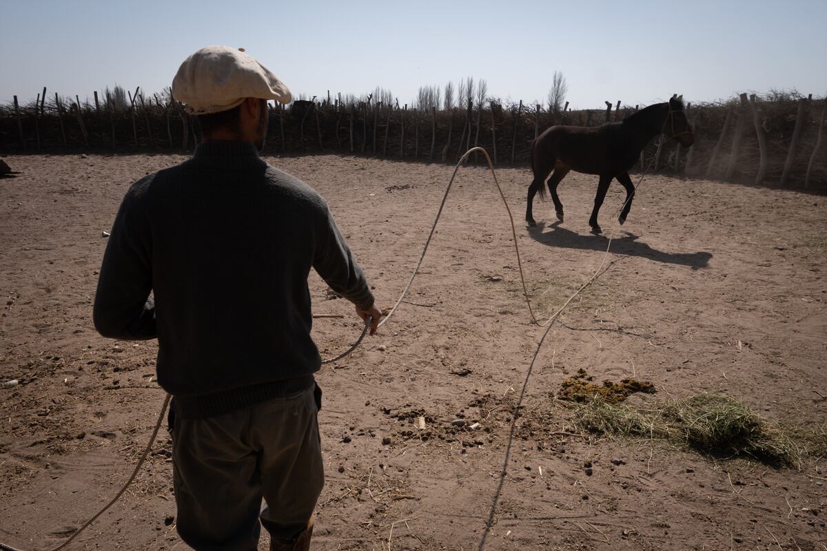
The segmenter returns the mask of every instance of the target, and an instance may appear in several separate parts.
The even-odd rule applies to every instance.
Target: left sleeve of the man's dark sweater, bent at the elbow
[[[157,336],[152,290],[151,233],[141,201],[142,184],[123,198],[103,254],[93,318],[95,329],[112,339]]]

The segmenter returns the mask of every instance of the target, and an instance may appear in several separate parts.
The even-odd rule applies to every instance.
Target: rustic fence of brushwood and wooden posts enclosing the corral
[[[28,104],[15,96],[11,104],[0,105],[0,151],[189,151],[201,140],[194,117],[178,102],[145,97],[140,87],[127,95],[128,100],[120,104],[109,93],[100,102],[95,91],[93,105],[58,93],[54,100],[46,98],[46,88]],[[287,107],[270,108],[265,154],[340,151],[418,159],[421,140],[430,142],[429,161],[439,157],[454,163],[458,153],[452,153],[468,149],[473,142],[492,151],[510,149],[510,155],[497,155],[497,163],[522,165],[528,162],[532,140],[548,126],[596,126],[622,120],[638,108],[606,101],[601,117],[602,108],[571,111],[565,107],[552,112],[536,104],[523,109],[522,101],[477,103],[467,99],[462,130],[457,132],[453,108],[409,109],[399,102],[371,102],[370,97],[342,102],[341,94],[332,100],[296,100]],[[662,171],[691,177],[782,186],[801,186],[806,179],[809,188],[825,188],[827,155],[820,150],[824,141],[820,115],[825,105],[825,99],[754,94],[749,100],[741,94],[729,102],[689,105],[686,115],[696,128],[696,145],[682,154],[685,150],[672,140],[660,151],[650,144],[641,162],[655,155]],[[484,128],[488,121],[490,129]],[[315,132],[308,126],[315,126]],[[398,147],[389,148],[389,142]]]

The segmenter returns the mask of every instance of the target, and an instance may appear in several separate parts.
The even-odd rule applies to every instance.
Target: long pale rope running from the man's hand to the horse
[[[666,123],[664,121],[664,125],[665,124]],[[660,148],[660,146],[662,145],[662,142],[663,142],[663,140],[661,140],[661,142],[657,145],[658,148]],[[437,211],[437,216],[433,221],[433,225],[431,226],[431,231],[430,231],[430,233],[428,233],[428,239],[425,241],[425,245],[423,246],[422,254],[419,256],[419,260],[418,260],[418,263],[416,265],[416,268],[414,268],[414,272],[411,273],[411,277],[408,281],[408,284],[404,287],[404,290],[399,295],[399,298],[394,303],[394,306],[390,309],[388,314],[385,316],[385,319],[380,322],[378,327],[381,327],[382,325],[385,325],[385,323],[390,320],[390,317],[394,315],[394,313],[396,312],[396,309],[402,303],[402,301],[404,300],[404,297],[408,294],[408,292],[410,291],[411,286],[414,284],[414,279],[416,278],[417,274],[419,273],[419,268],[422,267],[423,260],[425,259],[425,254],[428,252],[428,247],[431,245],[431,240],[433,239],[433,234],[437,229],[437,224],[439,222],[439,219],[442,217],[442,210],[445,207],[445,203],[447,202],[448,193],[451,191],[451,188],[452,188],[453,183],[454,183],[454,179],[457,177],[457,172],[459,171],[462,164],[464,164],[466,162],[466,159],[468,159],[468,157],[471,155],[471,153],[474,153],[475,151],[479,151],[485,156],[485,160],[488,164],[488,168],[490,169],[491,175],[494,178],[494,183],[497,187],[497,191],[500,192],[500,198],[502,198],[503,204],[505,206],[505,210],[508,212],[508,215],[509,215],[509,222],[511,224],[511,234],[514,237],[514,250],[515,250],[515,253],[517,255],[517,266],[519,268],[520,282],[523,285],[523,297],[525,298],[526,306],[528,306],[528,313],[531,316],[532,322],[534,324],[538,324],[542,327],[546,327],[546,330],[543,332],[543,336],[540,338],[537,349],[534,352],[531,363],[528,365],[528,372],[526,373],[525,380],[523,381],[523,387],[520,391],[519,401],[517,402],[517,406],[515,406],[515,408],[514,408],[514,411],[515,411],[515,414],[516,414],[516,412],[519,411],[519,408],[522,405],[523,397],[525,396],[525,391],[528,388],[528,379],[531,377],[531,373],[532,373],[533,368],[534,368],[534,363],[538,358],[538,355],[540,353],[540,349],[543,347],[543,342],[546,340],[546,336],[548,335],[549,331],[552,329],[552,325],[554,324],[554,321],[557,320],[557,318],[562,314],[562,312],[571,303],[571,301],[575,299],[575,297],[577,297],[581,292],[583,292],[583,290],[586,289],[586,287],[588,287],[591,283],[594,283],[595,280],[597,278],[599,278],[600,275],[602,275],[602,273],[605,273],[605,271],[609,269],[610,265],[609,265],[609,267],[606,268],[606,270],[603,270],[603,267],[605,265],[606,259],[608,258],[609,248],[611,247],[612,240],[614,239],[614,232],[615,232],[615,230],[617,230],[617,226],[618,226],[619,222],[617,221],[617,216],[616,216],[617,213],[615,213],[614,227],[612,229],[611,234],[609,235],[609,241],[606,244],[606,250],[605,250],[605,253],[604,253],[604,256],[603,256],[603,260],[600,263],[600,266],[595,271],[595,273],[591,276],[591,278],[589,278],[588,281],[586,281],[586,283],[584,283],[579,289],[577,289],[577,291],[573,295],[571,295],[571,297],[569,297],[569,299],[545,323],[540,324],[538,319],[537,319],[537,316],[534,315],[533,308],[531,307],[531,301],[528,298],[528,288],[525,285],[525,276],[523,274],[523,262],[522,262],[522,259],[520,258],[519,245],[517,243],[517,230],[514,226],[514,216],[512,216],[512,214],[511,214],[511,209],[509,208],[509,204],[505,199],[503,189],[500,187],[500,181],[497,179],[497,174],[494,170],[494,164],[491,162],[491,158],[488,154],[488,151],[486,151],[485,149],[483,149],[481,147],[473,147],[470,150],[467,150],[466,153],[463,154],[461,156],[461,158],[457,161],[457,165],[454,167],[454,172],[451,175],[451,180],[448,182],[447,188],[445,189],[445,193],[442,196],[442,202],[439,205],[439,210]],[[640,179],[638,180],[637,185],[635,185],[635,187],[634,187],[635,192],[637,192],[637,189],[640,186],[640,184],[643,183],[643,178],[646,176],[646,173],[648,173],[649,169],[652,167],[653,161],[654,161],[654,158],[649,161],[649,164],[648,164],[647,168],[643,171],[643,173],[641,173]],[[627,197],[626,201],[623,203],[623,205],[621,205],[618,212],[621,211],[624,207],[626,207],[626,204],[629,201],[632,200],[633,196],[634,196],[634,193],[631,194],[629,197]],[[359,338],[356,340],[356,342],[351,344],[350,348],[348,348],[347,350],[342,352],[342,354],[339,354],[339,355],[335,356],[334,358],[323,359],[322,363],[324,364],[324,363],[337,362],[338,360],[343,359],[343,358],[347,357],[348,355],[352,354],[359,347],[362,340],[365,339],[365,335],[367,335],[367,331],[370,329],[370,322],[371,321],[372,321],[371,317],[368,316],[366,321],[365,321],[365,326],[361,331],[361,335],[359,335]],[[378,327],[377,327],[377,329],[378,329]],[[146,444],[146,448],[144,449],[143,454],[141,454],[141,458],[138,459],[138,461],[135,465],[135,468],[132,471],[131,476],[129,477],[127,482],[123,485],[121,490],[118,491],[117,494],[114,497],[112,497],[112,500],[109,501],[106,506],[103,506],[103,508],[100,511],[98,511],[98,513],[96,513],[91,519],[87,520],[84,525],[82,525],[78,530],[76,530],[74,532],[74,534],[69,536],[69,539],[67,539],[65,542],[63,542],[62,544],[55,547],[52,551],[60,551],[60,549],[64,549],[67,545],[69,545],[75,538],[77,538],[79,536],[79,534],[81,534],[81,532],[86,530],[89,525],[92,525],[92,523],[95,520],[98,520],[98,517],[100,517],[100,515],[103,515],[103,513],[108,511],[108,509],[111,506],[113,506],[117,502],[117,500],[119,500],[121,498],[121,496],[124,494],[124,492],[127,491],[127,488],[131,485],[131,483],[135,481],[135,478],[137,477],[137,474],[141,470],[141,467],[143,466],[144,462],[146,461],[147,455],[149,454],[150,450],[152,449],[152,445],[155,444],[155,438],[158,436],[158,431],[160,430],[160,425],[164,420],[164,414],[166,413],[167,408],[170,406],[170,399],[171,398],[172,397],[170,396],[170,394],[166,395],[166,397],[164,399],[164,404],[163,404],[163,406],[161,406],[160,413],[158,414],[158,420],[155,422],[155,427],[152,430],[152,435],[150,436],[150,440]],[[500,492],[501,492],[503,484],[505,482],[506,469],[508,467],[508,461],[509,461],[509,457],[510,457],[510,453],[511,453],[511,441],[514,439],[514,430],[516,429],[517,417],[518,417],[517,415],[512,416],[513,421],[512,421],[511,430],[510,430],[510,433],[509,433],[509,445],[508,445],[508,448],[506,450],[505,460],[504,460],[504,463],[503,463],[503,469],[500,473],[500,483],[497,487],[497,492],[495,493],[494,504],[491,506],[489,519],[485,523],[486,524],[485,532],[484,532],[484,534],[482,536],[482,539],[480,541],[480,548],[479,548],[480,551],[481,551],[481,549],[483,549],[483,546],[485,545],[485,538],[488,535],[488,531],[490,530],[490,527],[493,525],[496,506],[497,506],[497,503],[499,501]],[[22,550],[14,548],[10,545],[3,544],[2,542],[0,542],[0,551],[22,551]]]

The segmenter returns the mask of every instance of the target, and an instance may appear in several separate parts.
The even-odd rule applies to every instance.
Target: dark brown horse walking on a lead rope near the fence
[[[672,97],[668,102],[650,105],[620,122],[609,122],[603,126],[552,126],[534,140],[531,146],[531,168],[534,180],[528,187],[528,206],[525,221],[536,226],[532,215],[534,195],[540,192],[545,198],[543,183],[548,178],[548,191],[552,192],[557,220],[563,221],[563,204],[557,197],[557,184],[570,170],[586,174],[598,174],[600,183],[595,196],[595,208],[591,211],[589,225],[600,233],[597,213],[606,197],[612,178],[626,188],[626,202],[620,212],[619,222],[626,221],[632,208],[634,185],[629,178],[629,169],[640,158],[649,140],[658,134],[666,134],[685,147],[695,143],[695,135],[683,112],[683,96]]]

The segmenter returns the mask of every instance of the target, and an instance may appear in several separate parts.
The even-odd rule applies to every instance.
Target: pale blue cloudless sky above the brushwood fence
[[[485,78],[495,97],[546,98],[562,71],[573,107],[683,93],[827,93],[827,0],[786,2],[103,2],[2,0],[0,102],[114,83],[156,92],[203,45],[244,46],[295,96],[400,103],[419,86]]]

